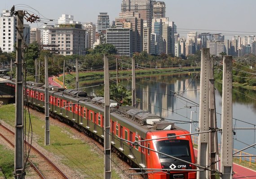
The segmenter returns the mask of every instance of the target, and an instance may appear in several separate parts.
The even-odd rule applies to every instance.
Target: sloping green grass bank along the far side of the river
[[[179,68],[161,68],[161,69],[145,69],[145,70],[136,70],[136,76],[154,76],[154,75],[170,75],[170,74],[179,74],[179,73],[188,73],[188,72],[194,72],[194,71],[200,71],[200,68],[182,68],[181,70]],[[110,77],[116,77],[116,71],[110,71],[109,72]],[[119,79],[132,77],[132,71],[131,70],[123,70],[118,71]],[[59,81],[63,81],[63,77],[58,77]],[[75,73],[66,74],[65,75],[65,84],[70,84],[75,81]],[[79,73],[79,85],[84,85],[88,83],[95,83],[104,81],[104,72],[80,72]]]

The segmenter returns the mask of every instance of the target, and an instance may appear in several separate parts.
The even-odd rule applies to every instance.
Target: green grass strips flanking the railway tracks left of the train
[[[15,106],[13,104],[0,107],[0,119],[14,127]],[[29,117],[26,112],[26,126],[29,125]],[[31,115],[33,138],[44,149],[60,156],[61,162],[72,169],[78,170],[88,179],[102,178],[104,174],[103,154],[94,152],[92,143],[84,143],[77,139],[72,131],[66,127],[50,126],[51,145],[44,146],[44,120]],[[5,176],[13,178],[13,153],[8,150],[2,150],[0,146],[0,168],[3,169]],[[4,156],[4,158],[2,157]],[[9,178],[9,177],[8,177]],[[113,179],[120,177],[112,172]]]

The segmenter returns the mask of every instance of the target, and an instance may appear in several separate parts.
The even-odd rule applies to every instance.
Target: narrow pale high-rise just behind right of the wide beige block
[[[96,42],[96,25],[93,22],[86,22],[82,26],[88,33],[88,44],[86,47],[93,49],[93,43]]]

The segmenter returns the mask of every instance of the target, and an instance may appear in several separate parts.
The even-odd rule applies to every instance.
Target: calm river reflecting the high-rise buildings
[[[122,85],[132,88],[131,79],[121,79]],[[99,84],[99,83],[97,83]],[[88,85],[97,85],[88,84]],[[82,87],[82,86],[81,86]],[[102,86],[86,88],[88,95],[93,96]],[[137,108],[159,115],[175,122],[177,126],[190,130],[190,118],[199,119],[200,79],[195,74],[158,75],[136,78],[136,97],[140,99]],[[216,118],[221,127],[221,92],[222,84],[215,84]],[[192,112],[191,112],[192,111]],[[234,128],[256,127],[256,91],[233,89],[233,126]],[[198,123],[192,124],[195,132]],[[234,149],[243,149],[256,143],[256,130],[234,130]],[[219,135],[218,142],[221,142]],[[255,148],[245,150],[256,154]]]

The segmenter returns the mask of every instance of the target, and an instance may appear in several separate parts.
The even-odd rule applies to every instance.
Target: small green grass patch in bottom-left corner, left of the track
[[[13,170],[14,170],[14,150],[11,151],[5,146],[0,145],[0,178],[6,177],[6,179],[13,179]]]

